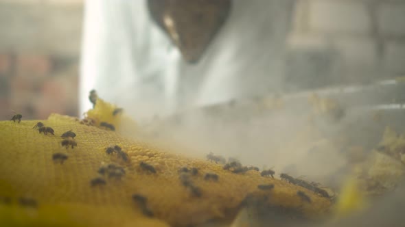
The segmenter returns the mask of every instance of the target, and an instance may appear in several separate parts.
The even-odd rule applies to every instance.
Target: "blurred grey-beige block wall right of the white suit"
[[[290,89],[404,75],[405,1],[298,0],[288,56]]]

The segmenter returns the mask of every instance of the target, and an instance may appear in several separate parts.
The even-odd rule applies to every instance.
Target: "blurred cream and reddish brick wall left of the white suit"
[[[0,120],[78,114],[82,0],[0,0]]]

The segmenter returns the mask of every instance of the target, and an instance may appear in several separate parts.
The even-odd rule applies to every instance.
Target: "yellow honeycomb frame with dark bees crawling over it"
[[[104,105],[103,111],[111,113],[109,108],[113,106]],[[97,106],[88,113],[89,118],[100,116]],[[37,122],[0,122],[0,226],[189,226],[212,219],[230,223],[251,193],[266,194],[266,203],[297,209],[310,219],[329,213],[327,198],[254,170],[234,174],[215,162],[176,155],[176,150],[164,152],[123,133],[80,124],[69,116],[52,114],[41,121],[54,129],[55,135],[38,133],[33,129]],[[76,133],[73,149],[60,144],[60,135],[69,130]],[[128,161],[106,153],[107,147],[115,145],[126,152]],[[54,161],[55,153],[68,159]],[[143,170],[141,161],[152,165],[156,173]],[[124,167],[126,174],[121,179],[97,172],[111,163]],[[200,188],[200,197],[181,184],[181,167],[198,168],[191,179]],[[206,173],[218,174],[218,181],[205,181]],[[104,178],[106,184],[92,186],[91,180],[97,177]],[[274,189],[257,189],[259,184],[270,183]],[[297,196],[298,190],[312,202]],[[148,198],[146,204],[153,217],[143,215],[141,206],[132,200],[135,193]],[[21,198],[33,199],[38,205],[23,205]]]

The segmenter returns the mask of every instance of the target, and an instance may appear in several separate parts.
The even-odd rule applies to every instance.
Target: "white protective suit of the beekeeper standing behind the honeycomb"
[[[198,64],[187,64],[143,0],[87,0],[80,111],[89,91],[138,120],[280,92],[294,0],[234,0]]]

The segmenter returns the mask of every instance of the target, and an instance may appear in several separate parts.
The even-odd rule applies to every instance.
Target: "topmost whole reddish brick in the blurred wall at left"
[[[16,74],[23,77],[44,77],[51,71],[51,60],[46,55],[19,55]]]

